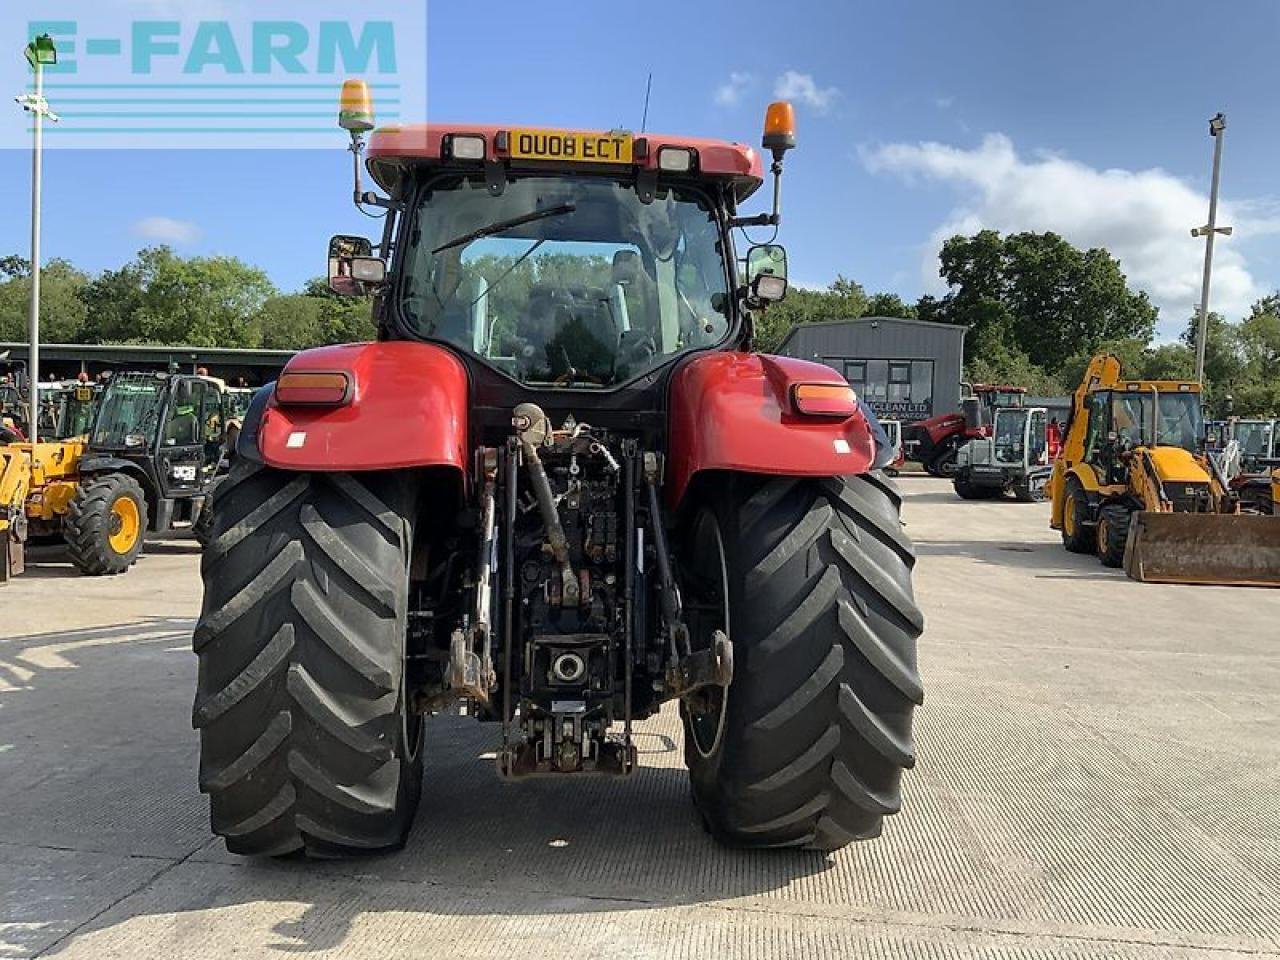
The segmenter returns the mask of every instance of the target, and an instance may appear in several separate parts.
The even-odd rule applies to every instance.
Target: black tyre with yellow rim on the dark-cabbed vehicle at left
[[[142,553],[147,530],[147,498],[141,484],[124,474],[83,479],[67,504],[63,536],[81,573],[123,573]]]

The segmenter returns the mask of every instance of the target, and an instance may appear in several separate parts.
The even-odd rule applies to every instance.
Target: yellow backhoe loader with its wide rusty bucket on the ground
[[[1201,385],[1089,362],[1050,479],[1050,526],[1134,580],[1280,586],[1280,520],[1248,516],[1204,453]]]

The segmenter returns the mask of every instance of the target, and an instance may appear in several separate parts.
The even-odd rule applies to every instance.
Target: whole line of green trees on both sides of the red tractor
[[[940,275],[946,294],[915,303],[868,293],[845,276],[826,289],[794,288],[756,315],[756,346],[776,348],[795,324],[897,316],[968,326],[970,380],[1020,384],[1041,396],[1071,392],[1100,351],[1116,353],[1132,376],[1194,372],[1196,319],[1180,339],[1156,343],[1156,306],[1130,289],[1106,250],[1079,250],[1053,233],[982,230],[942,244]],[[31,265],[0,257],[0,340],[26,339],[29,296]],[[168,247],[148,247],[97,275],[50,261],[41,271],[41,330],[51,343],[268,349],[375,335],[369,302],[335,297],[324,278],[284,293],[236,257],[183,257]],[[1280,291],[1238,323],[1210,315],[1206,392],[1215,413],[1225,413],[1230,398],[1239,416],[1280,415]]]

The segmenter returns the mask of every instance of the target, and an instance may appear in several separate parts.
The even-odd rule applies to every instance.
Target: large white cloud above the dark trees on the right
[[[1018,154],[1012,141],[991,133],[973,150],[946,143],[888,143],[863,150],[872,173],[891,173],[954,186],[961,202],[933,232],[922,266],[938,289],[938,248],[947,237],[989,228],[1004,233],[1052,230],[1078,247],[1106,247],[1130,284],[1160,307],[1161,334],[1179,333],[1199,301],[1204,242],[1190,228],[1208,212],[1208,197],[1166,170],[1100,170],[1053,154]],[[1240,234],[1280,230],[1274,210],[1222,202],[1219,223]],[[1210,305],[1228,317],[1248,312],[1263,292],[1233,241],[1213,251]]]

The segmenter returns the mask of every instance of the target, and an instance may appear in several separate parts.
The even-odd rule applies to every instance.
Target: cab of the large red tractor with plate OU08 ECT
[[[791,134],[772,136],[781,173]],[[735,228],[776,218],[737,218],[763,180],[745,145],[429,124],[378,131],[367,154],[393,256],[335,237],[330,285],[376,293],[383,337],[461,358],[486,422],[526,398],[568,412],[575,392],[653,410],[681,357],[745,344],[750,311],[786,292],[782,247],[735,253]]]

